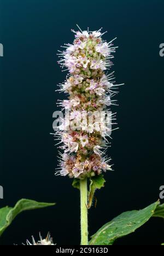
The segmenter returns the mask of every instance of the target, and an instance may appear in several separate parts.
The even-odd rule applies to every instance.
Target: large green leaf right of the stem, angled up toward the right
[[[113,245],[116,239],[131,234],[145,224],[154,214],[156,215],[156,211],[159,212],[158,209],[161,208],[159,204],[160,202],[157,201],[143,210],[122,213],[112,222],[102,226],[92,236],[90,245]]]

